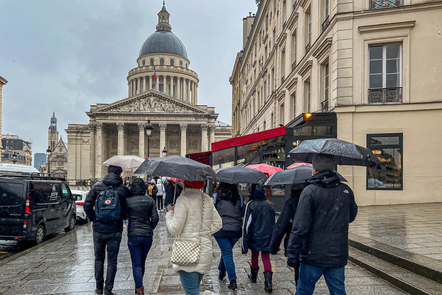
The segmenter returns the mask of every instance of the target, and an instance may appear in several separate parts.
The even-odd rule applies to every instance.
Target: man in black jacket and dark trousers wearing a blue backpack
[[[123,232],[123,217],[129,189],[123,185],[118,166],[109,166],[103,181],[90,189],[84,200],[84,211],[93,221],[93,241],[95,255],[95,295],[114,295],[113,282],[117,270],[117,257]],[[106,284],[104,281],[104,260],[108,254]],[[104,289],[103,289],[103,285]]]

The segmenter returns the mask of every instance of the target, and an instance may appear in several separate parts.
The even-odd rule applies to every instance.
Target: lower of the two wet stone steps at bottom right
[[[442,295],[442,285],[353,247],[348,260],[411,295]]]

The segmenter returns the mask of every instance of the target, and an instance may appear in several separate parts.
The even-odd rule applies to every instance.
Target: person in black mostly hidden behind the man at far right
[[[270,254],[276,255],[279,251],[282,238],[284,238],[284,255],[287,257],[287,245],[292,231],[293,218],[298,208],[299,197],[303,191],[304,185],[292,184],[290,189],[290,198],[285,201],[281,214],[276,221],[273,231],[272,241],[270,242]],[[295,267],[295,283],[298,285],[299,263]]]

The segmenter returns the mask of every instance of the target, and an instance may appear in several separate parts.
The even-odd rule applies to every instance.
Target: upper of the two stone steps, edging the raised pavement
[[[442,263],[436,259],[352,233],[348,235],[348,245],[394,266],[399,266],[421,277],[442,284]]]

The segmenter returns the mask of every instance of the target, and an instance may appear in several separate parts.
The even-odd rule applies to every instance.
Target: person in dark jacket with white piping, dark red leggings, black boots
[[[249,249],[251,250],[248,277],[252,283],[256,283],[259,271],[258,258],[259,252],[261,252],[261,260],[264,265],[264,291],[268,293],[273,291],[273,272],[269,251],[275,221],[275,208],[266,199],[264,183],[260,181],[258,184],[252,184],[244,216],[242,252],[247,254]]]

